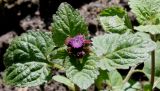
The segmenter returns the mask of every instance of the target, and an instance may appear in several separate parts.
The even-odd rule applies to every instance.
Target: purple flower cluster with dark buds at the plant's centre
[[[90,44],[90,41],[86,40],[83,35],[77,35],[73,38],[68,37],[66,39],[68,53],[77,58],[82,58],[89,52],[88,44]]]

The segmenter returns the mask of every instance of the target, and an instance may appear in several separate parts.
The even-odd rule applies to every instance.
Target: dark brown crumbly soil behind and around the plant
[[[6,86],[2,81],[5,69],[3,54],[8,48],[9,42],[27,30],[51,31],[52,15],[61,2],[68,2],[80,11],[92,36],[103,33],[97,15],[111,5],[123,6],[128,11],[132,22],[135,25],[138,24],[130,12],[127,0],[0,0],[0,91],[41,91],[41,89],[44,91],[69,91],[66,86],[55,81],[50,81],[44,86],[24,89]],[[59,74],[58,71],[53,71],[53,73]],[[87,91],[96,91],[96,89],[93,85]]]

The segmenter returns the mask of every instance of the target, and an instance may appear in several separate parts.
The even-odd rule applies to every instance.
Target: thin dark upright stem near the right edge
[[[153,41],[156,41],[156,38],[154,35],[151,35],[151,38]],[[153,84],[154,84],[154,75],[155,75],[155,50],[151,53],[151,88],[150,90],[153,91]]]

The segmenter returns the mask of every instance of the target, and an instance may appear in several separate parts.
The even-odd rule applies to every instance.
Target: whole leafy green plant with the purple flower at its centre
[[[159,69],[155,66],[155,60],[159,60],[159,42],[155,43],[160,33],[158,4],[160,0],[129,0],[141,24],[134,29],[122,7],[103,10],[98,19],[105,33],[89,39],[87,24],[79,12],[62,3],[53,15],[51,32],[28,31],[11,42],[4,55],[3,80],[18,87],[55,80],[73,91],[86,90],[92,84],[106,91],[159,88]],[[144,69],[136,69],[141,63],[145,63]],[[64,70],[65,76],[52,75],[52,68]],[[130,71],[125,76],[118,69]],[[150,88],[130,79],[135,72],[151,78]]]

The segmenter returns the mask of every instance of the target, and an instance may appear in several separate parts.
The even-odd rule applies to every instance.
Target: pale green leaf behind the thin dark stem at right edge
[[[157,48],[155,50],[155,83],[154,87],[158,87],[160,89],[160,42],[157,42]],[[151,58],[144,63],[143,68],[146,76],[150,79],[151,76]]]

